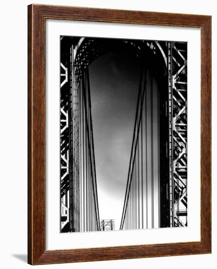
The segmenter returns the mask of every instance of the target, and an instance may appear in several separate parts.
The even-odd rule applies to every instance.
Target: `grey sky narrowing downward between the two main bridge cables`
[[[133,138],[140,66],[110,53],[90,66],[90,89],[100,219],[119,229]]]

